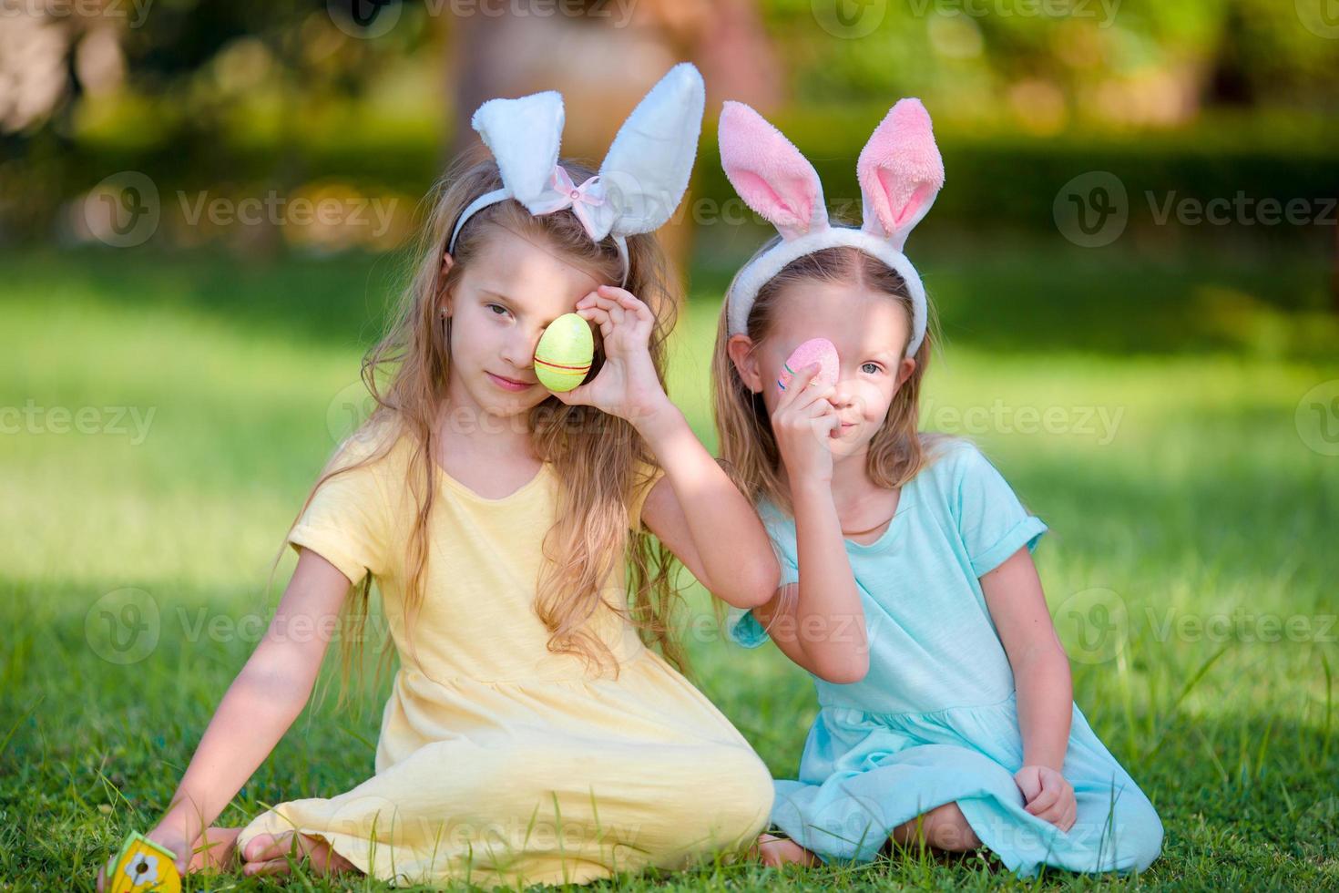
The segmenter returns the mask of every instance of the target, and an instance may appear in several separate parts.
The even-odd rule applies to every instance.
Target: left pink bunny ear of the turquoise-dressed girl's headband
[[[722,167],[744,204],[777,229],[807,232],[822,186],[799,150],[739,102],[726,102],[719,141]]]

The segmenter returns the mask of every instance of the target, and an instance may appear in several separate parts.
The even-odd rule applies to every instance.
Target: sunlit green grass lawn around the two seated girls
[[[927,423],[972,436],[1051,526],[1036,560],[1075,699],[1166,827],[1138,878],[1036,885],[1335,888],[1339,457],[1319,426],[1339,419],[1311,408],[1334,394],[1307,396],[1339,388],[1326,260],[1023,246],[924,264],[945,335]],[[266,593],[269,562],[347,423],[396,261],[29,252],[0,269],[0,407],[24,414],[0,434],[0,890],[91,889],[167,806],[264,629],[292,568]],[[672,351],[672,396],[708,443],[722,276],[695,272]],[[708,611],[699,589],[690,601]],[[143,635],[108,637],[107,609]],[[698,629],[696,681],[793,777],[806,673]],[[304,712],[220,823],[371,774],[380,700],[332,704]],[[619,885],[1010,882],[981,857],[898,856]]]

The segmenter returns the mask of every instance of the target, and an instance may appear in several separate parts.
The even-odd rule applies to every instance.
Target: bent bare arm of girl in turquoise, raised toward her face
[[[856,683],[869,672],[865,609],[850,570],[841,521],[825,481],[791,479],[799,584],[782,586],[754,617],[777,647],[832,683]]]

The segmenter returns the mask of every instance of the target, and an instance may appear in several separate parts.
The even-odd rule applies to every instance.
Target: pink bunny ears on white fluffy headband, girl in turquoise
[[[814,166],[749,106],[726,103],[719,139],[720,163],[730,183],[782,238],[735,277],[726,296],[730,335],[747,332],[758,289],[787,264],[823,248],[852,246],[884,261],[907,281],[912,297],[907,356],[913,356],[925,337],[925,287],[902,254],[902,245],[944,185],[944,161],[925,106],[919,99],[898,100],[860,153],[856,163],[864,199],[860,229],[828,222],[823,186]]]

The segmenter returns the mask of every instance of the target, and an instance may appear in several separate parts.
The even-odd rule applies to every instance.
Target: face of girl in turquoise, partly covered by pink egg
[[[771,332],[754,345],[747,335],[727,343],[744,384],[762,392],[771,415],[781,399],[777,379],[790,353],[813,337],[826,337],[837,348],[840,372],[829,398],[841,427],[829,436],[838,455],[862,453],[888,416],[893,395],[916,368],[902,359],[908,339],[901,301],[881,292],[852,285],[798,282],[775,297],[779,312]]]

